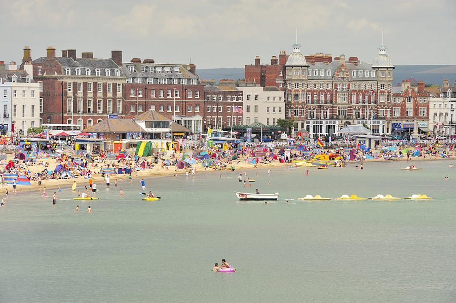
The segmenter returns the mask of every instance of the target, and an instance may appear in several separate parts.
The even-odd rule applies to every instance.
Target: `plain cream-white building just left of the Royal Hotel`
[[[261,122],[276,125],[277,119],[285,119],[283,91],[275,86],[239,86],[243,93],[243,124]]]

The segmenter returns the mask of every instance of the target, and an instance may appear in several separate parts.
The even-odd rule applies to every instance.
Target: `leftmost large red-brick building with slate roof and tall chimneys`
[[[31,60],[30,52],[24,48],[22,64]],[[33,78],[40,84],[42,123],[86,128],[109,114],[122,116],[125,77],[121,62],[122,51],[112,51],[111,58],[95,59],[90,52],[78,58],[76,50],[68,49],[56,57],[55,48],[48,47],[46,57],[32,61]]]

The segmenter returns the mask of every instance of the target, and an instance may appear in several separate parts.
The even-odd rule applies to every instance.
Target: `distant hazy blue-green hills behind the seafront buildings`
[[[200,79],[214,79],[217,83],[220,79],[244,79],[244,68],[197,69],[197,73]],[[443,79],[449,79],[452,85],[456,80],[456,65],[397,65],[393,71],[393,85],[409,78],[438,85]]]

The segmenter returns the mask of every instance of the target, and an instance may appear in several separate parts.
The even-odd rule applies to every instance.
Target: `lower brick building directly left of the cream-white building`
[[[204,87],[204,129],[231,127],[242,124],[242,113],[233,112],[233,106],[242,108],[242,91],[234,86]],[[233,117],[233,120],[232,120]]]

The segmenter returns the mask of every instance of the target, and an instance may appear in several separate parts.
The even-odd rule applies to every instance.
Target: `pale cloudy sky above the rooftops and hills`
[[[372,62],[384,44],[393,64],[456,64],[454,0],[0,0],[0,61],[32,59],[54,46],[123,61],[195,63],[198,68],[270,63],[279,51],[345,54]]]

